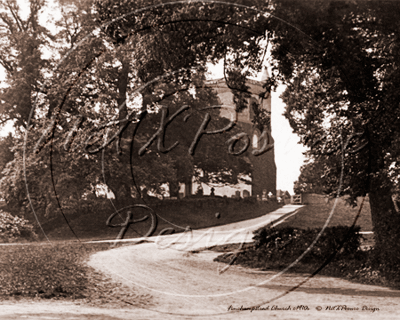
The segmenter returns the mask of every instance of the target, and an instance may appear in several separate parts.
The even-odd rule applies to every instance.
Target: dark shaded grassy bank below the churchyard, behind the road
[[[105,202],[110,206],[110,202]],[[243,199],[193,199],[181,201],[160,201],[149,204],[157,215],[157,228],[153,235],[157,235],[165,228],[173,228],[175,232],[183,232],[186,227],[200,229],[218,225],[229,224],[241,220],[260,217],[278,209],[281,205],[276,202],[250,202]],[[121,227],[111,228],[106,225],[107,219],[115,210],[110,206],[96,212],[82,210],[77,215],[69,215],[67,219],[79,239],[101,240],[115,239]],[[134,219],[149,214],[146,209],[135,209]],[[217,215],[218,213],[218,215]],[[120,224],[126,219],[126,212],[121,216],[116,215],[113,224]],[[58,215],[51,221],[41,221],[46,235],[50,240],[74,240],[72,233],[65,220]],[[137,238],[144,236],[151,226],[151,220],[147,219],[141,223],[131,224],[125,234],[126,238]],[[42,236],[38,232],[39,236]]]

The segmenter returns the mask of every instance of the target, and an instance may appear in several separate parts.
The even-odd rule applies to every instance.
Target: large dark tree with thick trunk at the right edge
[[[285,116],[332,195],[369,195],[376,249],[400,264],[398,2],[275,1],[272,57],[287,85]],[[286,21],[282,23],[281,21]],[[300,32],[299,32],[300,31]]]

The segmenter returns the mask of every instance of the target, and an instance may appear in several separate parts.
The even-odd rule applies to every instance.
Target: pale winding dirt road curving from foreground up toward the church
[[[267,220],[287,214],[280,211]],[[252,225],[219,227],[211,240],[188,233],[91,256],[90,266],[123,282],[126,292],[151,295],[151,304],[95,308],[73,302],[3,302],[0,319],[400,319],[400,291],[323,276],[226,268],[213,262],[219,253],[199,249],[228,239],[224,232],[229,230],[237,235],[230,239],[244,241],[237,231]]]

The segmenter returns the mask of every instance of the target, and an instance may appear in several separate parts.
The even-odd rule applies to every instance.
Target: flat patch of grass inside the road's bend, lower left
[[[91,253],[107,249],[107,244],[74,242],[0,246],[0,299],[73,299],[124,307],[150,303],[85,265]]]

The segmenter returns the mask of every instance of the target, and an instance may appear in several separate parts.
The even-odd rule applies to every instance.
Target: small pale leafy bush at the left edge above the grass
[[[15,242],[20,239],[36,240],[37,235],[28,220],[0,210],[0,241]]]

